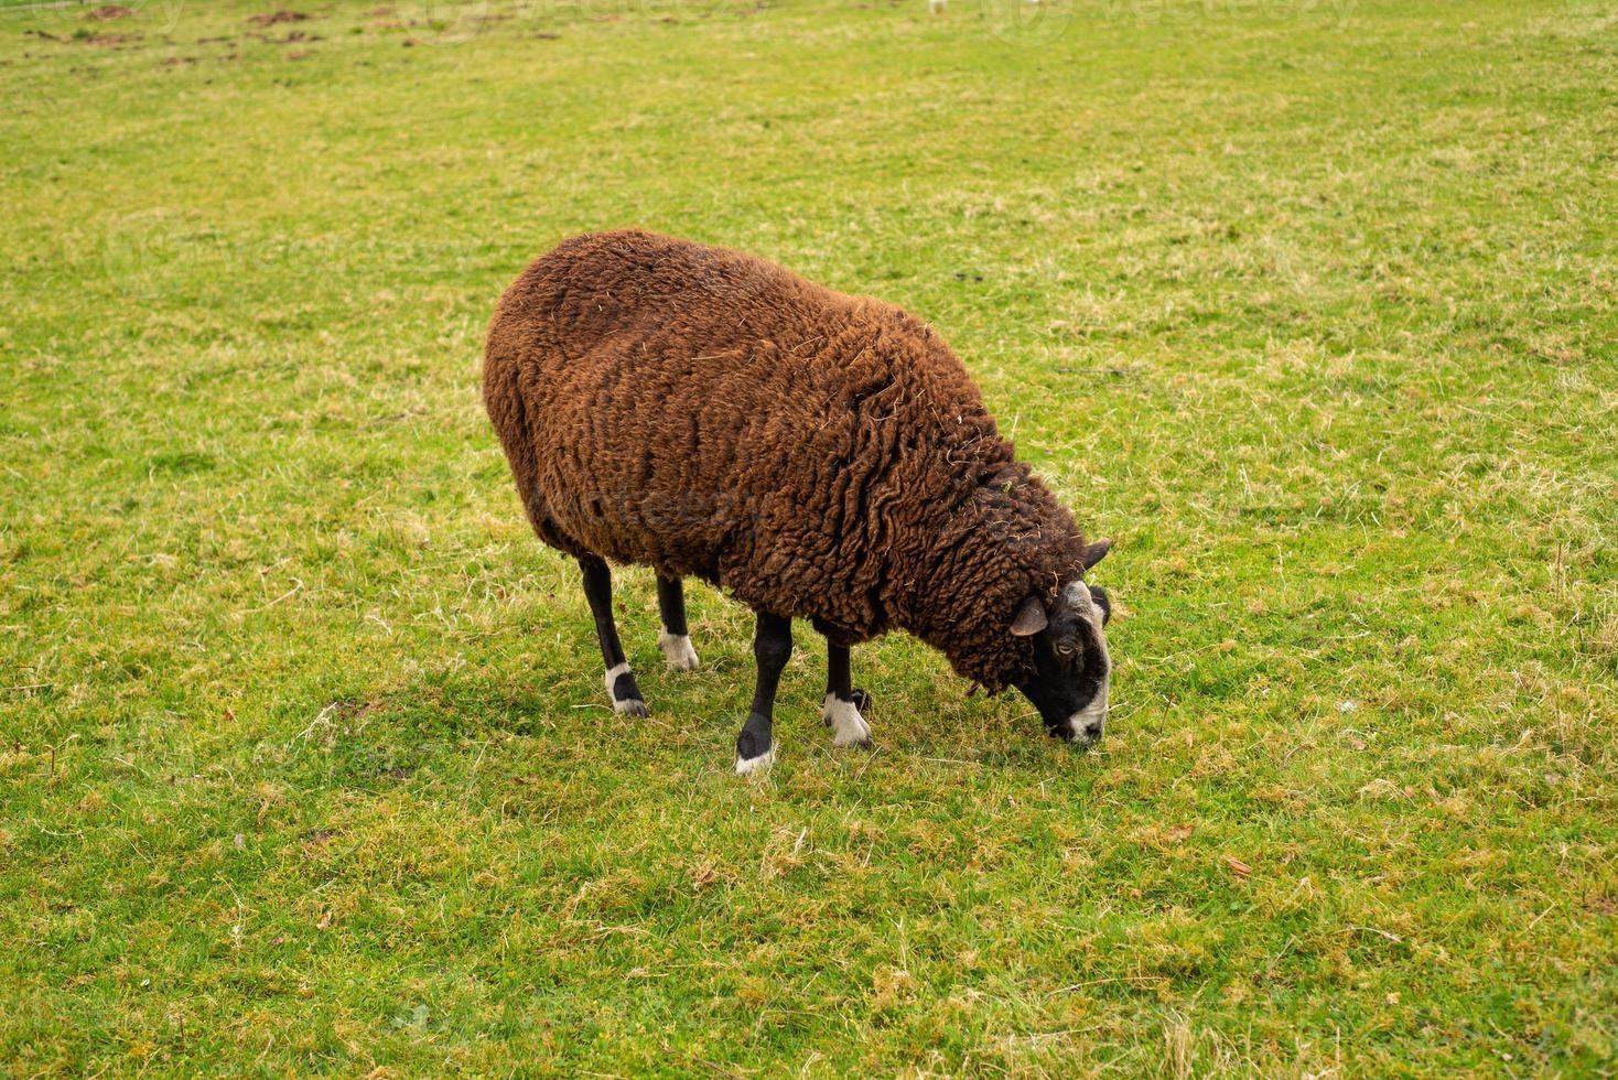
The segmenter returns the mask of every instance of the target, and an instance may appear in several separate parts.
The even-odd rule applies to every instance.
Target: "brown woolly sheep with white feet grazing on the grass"
[[[848,650],[888,629],[1018,687],[1052,734],[1100,737],[1110,603],[1081,576],[1110,542],[1084,542],[919,319],[722,247],[574,236],[500,299],[484,404],[534,532],[579,559],[620,713],[646,703],[608,559],[655,569],[671,668],[697,666],[681,579],[757,613],[738,773],[773,760],[793,618],[827,639],[837,745],[870,737]]]

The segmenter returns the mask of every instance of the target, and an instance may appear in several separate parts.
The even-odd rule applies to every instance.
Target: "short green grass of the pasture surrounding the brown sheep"
[[[0,15],[10,1070],[1618,1070],[1610,5],[377,3]],[[938,327],[1103,747],[803,632],[741,781],[644,571],[604,708],[477,369],[618,225]]]

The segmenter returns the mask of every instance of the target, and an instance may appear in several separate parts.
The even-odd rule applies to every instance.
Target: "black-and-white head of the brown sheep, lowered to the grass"
[[[1094,566],[1107,553],[1103,545]],[[1034,669],[1014,686],[1034,703],[1045,729],[1060,739],[1095,742],[1107,726],[1112,658],[1107,655],[1107,592],[1082,580],[1068,582],[1053,610],[1031,597],[1011,622],[1011,632],[1031,637]]]

